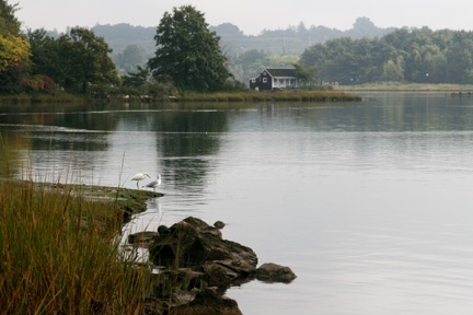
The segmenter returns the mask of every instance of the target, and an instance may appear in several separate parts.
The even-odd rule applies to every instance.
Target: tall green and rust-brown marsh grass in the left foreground
[[[115,207],[0,180],[0,313],[139,314],[149,275],[122,254]]]

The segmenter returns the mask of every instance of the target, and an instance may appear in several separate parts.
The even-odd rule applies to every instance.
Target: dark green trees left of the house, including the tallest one
[[[93,30],[73,27],[59,36],[45,30],[23,33],[15,11],[16,5],[0,0],[0,94],[65,92],[92,97],[125,94],[155,98],[187,92],[246,90],[226,67],[219,37],[209,31],[204,13],[191,5],[164,13],[153,37],[154,56],[140,56],[140,62],[127,60],[132,71],[122,75],[105,38]],[[130,56],[139,52],[128,50]]]

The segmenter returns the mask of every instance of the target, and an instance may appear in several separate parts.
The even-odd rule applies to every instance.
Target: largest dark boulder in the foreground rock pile
[[[209,285],[229,285],[256,271],[257,256],[250,247],[222,240],[221,231],[196,218],[187,218],[154,237],[149,246],[157,266],[203,271]]]

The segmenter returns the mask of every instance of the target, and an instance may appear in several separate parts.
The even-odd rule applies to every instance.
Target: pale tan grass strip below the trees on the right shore
[[[360,85],[337,85],[334,86],[335,91],[356,92],[473,92],[471,84],[428,84],[428,83],[369,83]]]

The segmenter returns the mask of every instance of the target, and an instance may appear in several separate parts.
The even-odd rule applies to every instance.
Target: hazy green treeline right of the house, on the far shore
[[[401,28],[380,38],[337,38],[301,56],[318,79],[339,84],[368,82],[473,83],[473,32]]]

